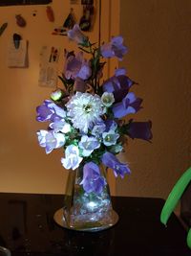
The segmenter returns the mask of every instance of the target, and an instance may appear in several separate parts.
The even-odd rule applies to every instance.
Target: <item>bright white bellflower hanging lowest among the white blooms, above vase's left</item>
[[[74,145],[69,145],[65,151],[65,158],[61,158],[61,163],[65,169],[75,170],[82,160],[83,158],[79,156],[79,149]]]

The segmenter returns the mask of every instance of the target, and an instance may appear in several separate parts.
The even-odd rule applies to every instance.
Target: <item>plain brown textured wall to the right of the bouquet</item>
[[[121,0],[120,34],[127,67],[143,98],[137,120],[152,120],[153,142],[131,141],[121,159],[132,174],[117,180],[117,195],[166,198],[191,165],[191,2]],[[125,159],[124,159],[125,158]]]

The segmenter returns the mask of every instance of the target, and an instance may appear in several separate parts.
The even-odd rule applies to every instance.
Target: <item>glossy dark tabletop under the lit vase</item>
[[[187,256],[186,231],[173,215],[159,221],[160,198],[113,199],[119,221],[104,231],[86,233],[58,226],[54,212],[61,195],[0,193],[0,245],[12,256]]]

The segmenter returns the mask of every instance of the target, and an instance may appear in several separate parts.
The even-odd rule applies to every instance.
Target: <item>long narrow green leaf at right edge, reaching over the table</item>
[[[177,206],[184,190],[191,180],[191,167],[185,171],[183,175],[180,176],[180,179],[177,181],[173,187],[171,193],[166,199],[163,208],[160,213],[160,221],[166,225],[169,217]],[[190,235],[191,236],[191,235]]]

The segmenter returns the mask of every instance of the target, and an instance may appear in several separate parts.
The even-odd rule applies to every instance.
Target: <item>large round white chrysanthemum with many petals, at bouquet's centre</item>
[[[98,95],[76,92],[66,106],[74,128],[78,128],[85,133],[97,121],[101,121],[103,105]]]

